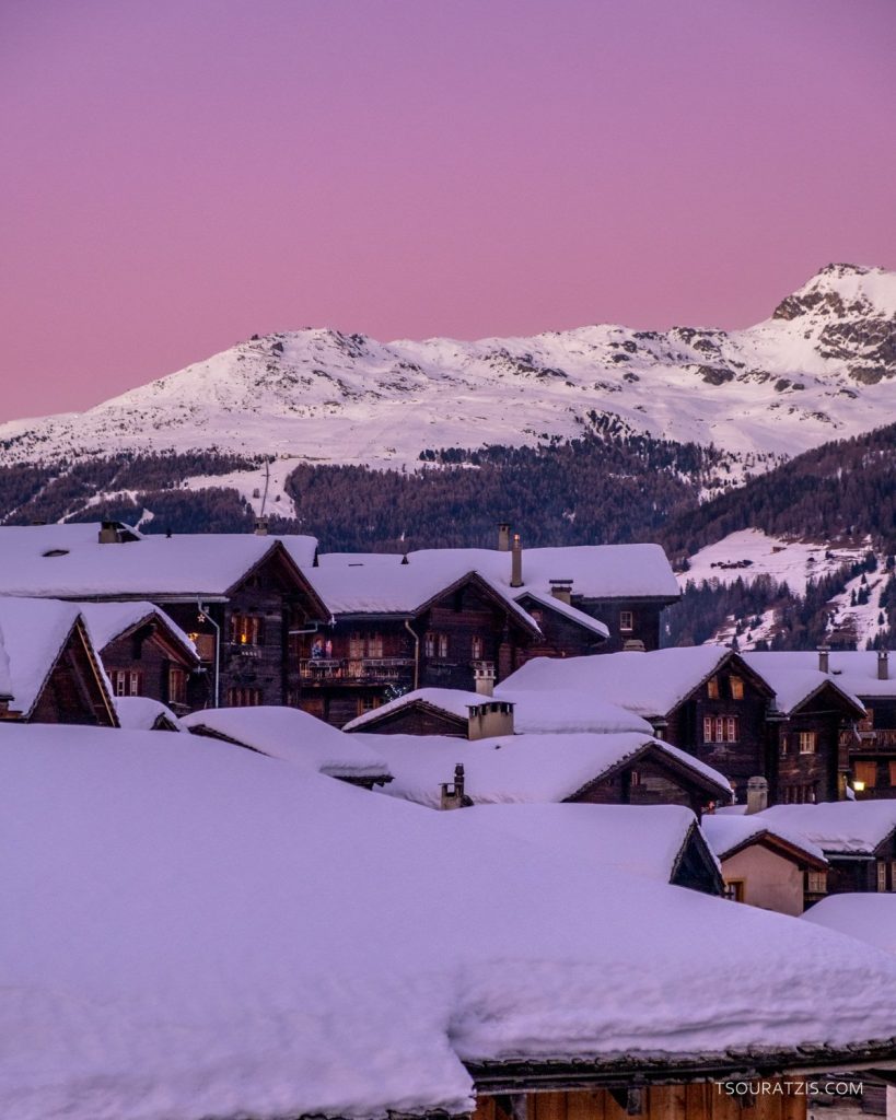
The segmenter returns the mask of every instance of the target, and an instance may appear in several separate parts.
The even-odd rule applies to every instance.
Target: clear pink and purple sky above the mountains
[[[4,0],[0,419],[896,268],[893,0]]]

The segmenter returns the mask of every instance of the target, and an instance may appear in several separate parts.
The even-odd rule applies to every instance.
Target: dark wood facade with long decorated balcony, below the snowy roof
[[[298,703],[343,727],[416,688],[472,692],[477,669],[504,680],[536,637],[473,572],[414,612],[340,615],[332,629],[298,635],[290,659],[300,678]]]

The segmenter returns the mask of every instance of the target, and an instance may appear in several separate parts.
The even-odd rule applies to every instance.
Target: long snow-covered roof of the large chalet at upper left
[[[90,532],[86,532],[90,530]],[[183,533],[99,543],[99,524],[0,526],[0,595],[62,599],[221,596],[278,541],[297,566],[310,566],[314,536]]]

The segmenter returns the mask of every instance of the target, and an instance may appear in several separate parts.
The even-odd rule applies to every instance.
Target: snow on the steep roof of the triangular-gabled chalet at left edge
[[[0,596],[0,646],[8,675],[0,681],[0,694],[11,693],[13,711],[30,712],[78,617],[73,603]]]

